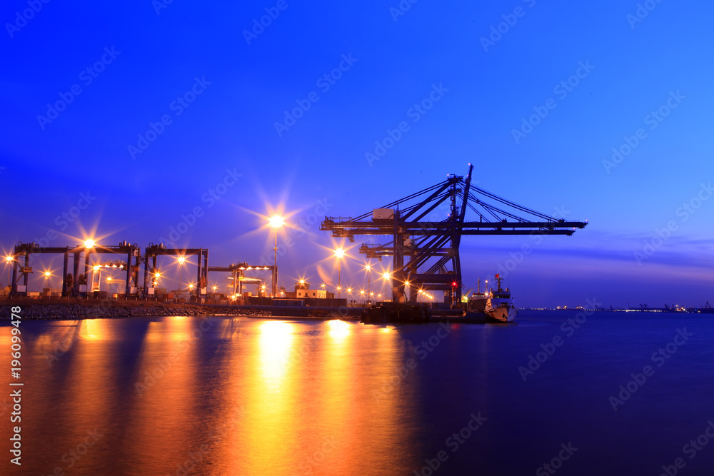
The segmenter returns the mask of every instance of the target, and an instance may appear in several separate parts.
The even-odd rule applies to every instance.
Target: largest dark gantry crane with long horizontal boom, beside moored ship
[[[361,236],[391,236],[391,242],[382,245],[363,243],[359,251],[379,260],[393,257],[393,300],[403,300],[407,289],[411,302],[416,302],[414,290],[443,290],[446,297],[460,302],[461,236],[570,236],[575,228],[588,224],[553,218],[478,188],[471,183],[472,172],[473,165],[469,164],[466,178],[448,175],[446,181],[355,218],[325,217],[320,229],[351,242]],[[448,208],[447,218],[436,221],[437,208]],[[476,213],[478,221],[466,221],[467,208]]]

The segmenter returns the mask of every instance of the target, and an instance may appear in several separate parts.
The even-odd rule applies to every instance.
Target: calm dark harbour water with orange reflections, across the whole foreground
[[[574,317],[25,321],[23,464],[6,456],[0,472],[545,475],[548,463],[558,475],[660,475],[682,458],[678,474],[714,474],[714,441],[685,447],[714,421],[712,316],[595,313],[561,328]],[[678,329],[692,335],[675,339]],[[532,375],[518,370],[529,355],[547,357]],[[653,373],[613,410],[646,365]]]

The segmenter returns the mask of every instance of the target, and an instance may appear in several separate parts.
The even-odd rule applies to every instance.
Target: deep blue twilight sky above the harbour
[[[66,236],[52,244],[64,246],[96,229],[101,243],[143,248],[200,206],[178,245],[208,248],[211,265],[258,262],[272,260],[262,217],[283,204],[307,233],[281,232],[281,282],[336,283],[333,242],[318,229],[325,215],[366,213],[473,163],[478,186],[590,225],[540,244],[466,237],[466,285],[531,243],[506,278],[519,306],[714,303],[714,4],[645,4],[651,11],[612,0],[37,1],[32,14],[27,1],[6,1],[0,244],[54,229]],[[266,9],[276,18],[246,34]],[[25,10],[29,20],[18,19]],[[86,69],[102,59],[92,77]],[[320,81],[340,66],[332,84]],[[559,86],[569,78],[577,85]],[[195,101],[174,102],[197,79]],[[48,116],[74,85],[81,93]],[[416,113],[435,86],[442,96]],[[312,91],[317,101],[278,133],[284,111]],[[547,102],[548,115],[514,138]],[[170,123],[132,154],[162,116]],[[402,121],[408,131],[370,163],[365,154]],[[629,154],[603,163],[640,128]],[[242,176],[215,200],[226,170]],[[57,217],[81,193],[96,198],[62,230]],[[638,263],[635,252],[668,224]],[[343,285],[366,285],[363,256],[348,255]],[[38,263],[61,274],[59,257]]]

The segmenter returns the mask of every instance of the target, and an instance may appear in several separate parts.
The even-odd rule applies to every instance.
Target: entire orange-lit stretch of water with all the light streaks
[[[105,446],[81,470],[111,458],[126,474],[179,474],[197,457],[189,474],[396,474],[417,450],[410,415],[420,383],[417,373],[399,377],[413,353],[398,328],[218,318],[201,333],[203,318],[66,323],[48,333],[69,340],[71,352],[37,380],[52,405],[31,412],[71,432],[50,462],[95,426],[108,428]]]

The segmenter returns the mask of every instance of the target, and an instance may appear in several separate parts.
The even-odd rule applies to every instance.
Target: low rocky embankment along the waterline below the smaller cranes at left
[[[104,300],[99,303],[14,303],[21,307],[24,319],[94,319],[128,318],[160,315],[245,315],[269,316],[259,309],[212,308],[210,306],[174,303],[118,303]],[[0,319],[9,319],[12,305],[0,305]]]

